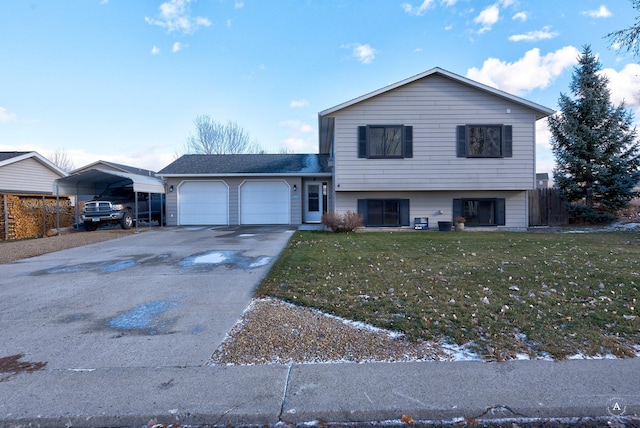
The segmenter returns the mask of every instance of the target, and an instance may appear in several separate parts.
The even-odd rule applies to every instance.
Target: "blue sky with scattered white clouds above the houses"
[[[582,46],[640,116],[638,58],[604,38],[629,0],[0,2],[0,151],[160,170],[193,120],[317,152],[317,113],[433,67],[557,108]],[[538,126],[538,172],[553,168]]]

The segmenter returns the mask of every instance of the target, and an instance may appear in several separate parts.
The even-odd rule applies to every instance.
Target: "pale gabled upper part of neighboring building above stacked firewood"
[[[0,193],[51,195],[67,173],[37,152],[0,152]]]

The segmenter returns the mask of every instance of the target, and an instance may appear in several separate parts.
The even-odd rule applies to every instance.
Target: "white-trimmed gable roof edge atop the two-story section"
[[[490,86],[484,85],[482,83],[476,82],[474,80],[467,79],[466,77],[459,76],[459,75],[457,75],[455,73],[451,73],[450,71],[444,70],[442,68],[435,67],[435,68],[427,70],[427,71],[425,71],[423,73],[420,73],[420,74],[417,74],[415,76],[409,77],[408,79],[401,80],[399,82],[393,83],[393,84],[385,86],[383,88],[380,88],[380,89],[378,89],[376,91],[373,91],[373,92],[370,92],[368,94],[362,95],[360,97],[354,98],[352,100],[346,101],[346,102],[344,102],[342,104],[338,104],[337,106],[334,106],[334,107],[331,107],[331,108],[329,108],[327,110],[321,111],[318,115],[320,117],[330,116],[330,115],[332,115],[332,114],[334,114],[334,113],[336,113],[336,112],[338,112],[340,110],[343,110],[343,109],[345,109],[347,107],[350,107],[352,105],[358,104],[358,103],[360,103],[362,101],[371,99],[373,97],[376,97],[378,95],[384,94],[384,93],[389,92],[389,91],[393,91],[394,89],[397,89],[397,88],[399,88],[401,86],[413,83],[415,81],[418,81],[420,79],[424,79],[424,78],[427,78],[427,77],[433,76],[433,75],[440,75],[440,76],[446,77],[448,79],[451,79],[453,81],[456,81],[458,83],[461,83],[463,85],[469,86],[471,88],[475,88],[477,90],[480,90],[480,91],[483,91],[483,92],[486,92],[486,93],[489,93],[489,94],[492,94],[492,95],[495,95],[495,96],[499,96],[499,97],[505,98],[505,99],[507,99],[509,101],[512,101],[514,103],[523,105],[523,106],[525,106],[525,107],[527,107],[527,108],[529,108],[529,109],[531,109],[531,110],[533,110],[535,112],[536,119],[542,119],[542,118],[547,117],[549,115],[552,115],[554,113],[554,110],[549,109],[549,108],[544,107],[544,106],[541,106],[539,104],[533,103],[531,101],[525,100],[524,98],[520,98],[520,97],[517,97],[515,95],[509,94],[508,92],[504,92],[504,91],[501,91],[499,89],[495,89],[495,88],[492,88]]]

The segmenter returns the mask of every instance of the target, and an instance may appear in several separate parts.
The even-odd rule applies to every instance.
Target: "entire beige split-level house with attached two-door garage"
[[[158,173],[175,190],[167,224],[300,224],[330,210],[371,227],[461,215],[526,228],[535,123],[551,114],[434,68],[320,112],[319,155],[183,156]],[[269,162],[287,157],[298,165]]]

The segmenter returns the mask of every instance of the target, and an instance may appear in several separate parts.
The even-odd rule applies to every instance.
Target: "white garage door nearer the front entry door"
[[[247,181],[240,187],[241,224],[289,224],[289,185]]]

